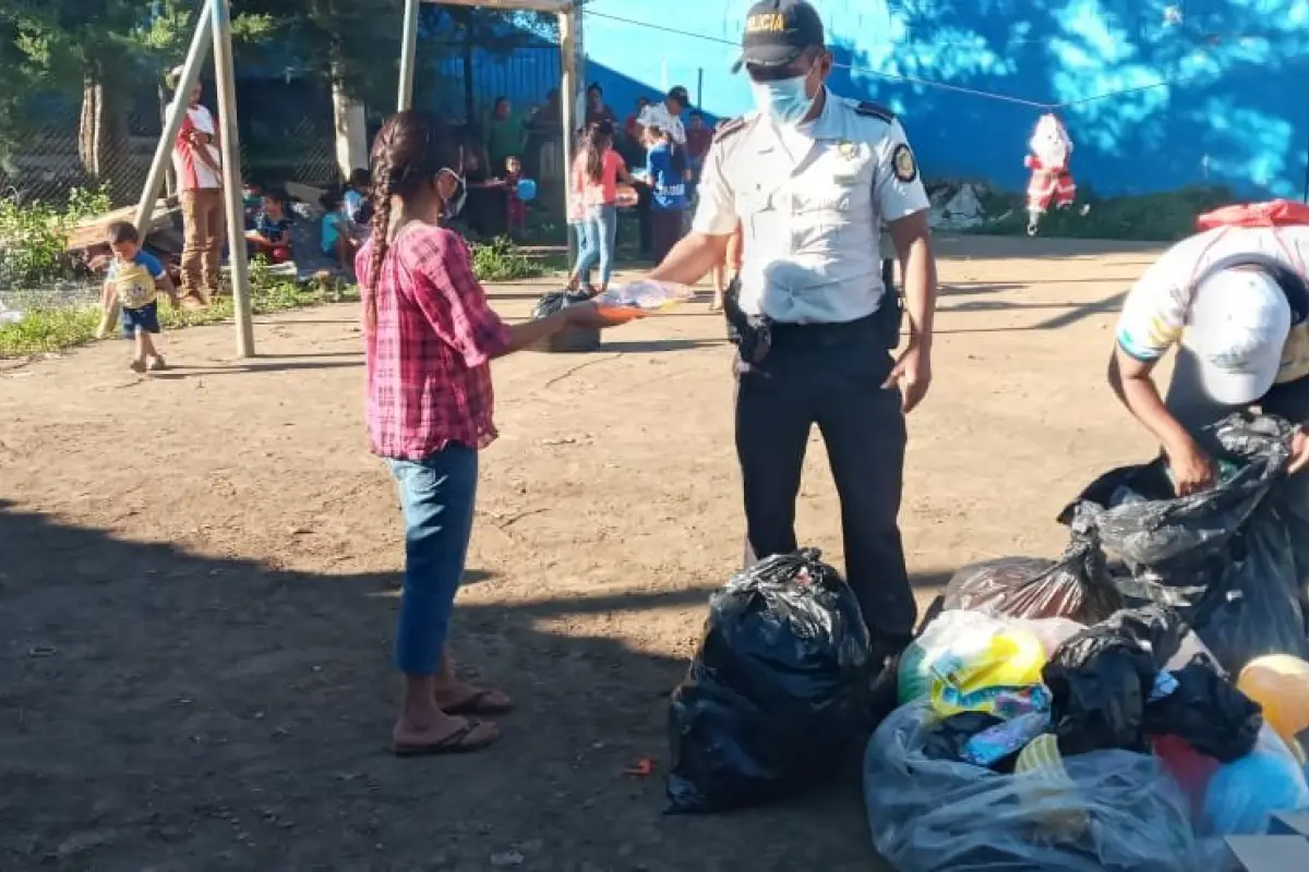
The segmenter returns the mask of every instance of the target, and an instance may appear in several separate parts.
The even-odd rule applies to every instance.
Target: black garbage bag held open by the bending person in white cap
[[[1232,464],[1215,488],[1175,498],[1156,460],[1102,476],[1060,519],[1089,523],[1131,571],[1118,579],[1128,603],[1179,608],[1229,672],[1264,654],[1309,658],[1309,603],[1284,518],[1289,501],[1268,499],[1296,484],[1284,477],[1292,428],[1236,414],[1215,429]]]

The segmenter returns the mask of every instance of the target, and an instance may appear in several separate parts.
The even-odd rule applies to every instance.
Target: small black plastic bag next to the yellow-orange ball
[[[1229,763],[1254,750],[1263,727],[1259,705],[1237,690],[1204,655],[1172,677],[1177,688],[1145,705],[1145,732],[1177,736],[1191,748]]]

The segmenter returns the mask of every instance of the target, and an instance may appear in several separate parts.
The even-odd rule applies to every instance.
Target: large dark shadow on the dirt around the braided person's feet
[[[461,607],[461,652],[521,709],[484,754],[401,762],[394,574],[203,557],[4,501],[0,554],[0,868],[877,865],[857,773],[698,818],[661,816],[661,777],[624,775],[643,757],[662,774],[685,664],[546,625],[694,607],[706,586]]]

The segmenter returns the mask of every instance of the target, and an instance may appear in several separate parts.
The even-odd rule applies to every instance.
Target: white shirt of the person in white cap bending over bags
[[[1238,254],[1272,258],[1300,275],[1309,265],[1309,227],[1216,227],[1182,239],[1136,280],[1118,320],[1118,344],[1139,361],[1157,361],[1182,339],[1195,280]],[[1309,326],[1291,329],[1278,383],[1309,375]]]

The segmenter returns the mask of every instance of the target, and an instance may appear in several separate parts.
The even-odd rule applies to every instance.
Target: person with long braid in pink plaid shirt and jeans
[[[448,635],[473,529],[478,452],[495,438],[492,358],[568,324],[598,327],[590,303],[508,326],[487,306],[469,248],[440,226],[461,179],[429,115],[393,115],[373,144],[373,220],[355,268],[364,303],[368,434],[404,515],[404,591],[395,665],[404,677],[391,732],[401,757],[479,750],[500,737],[478,716],[503,693],[459,681]]]

